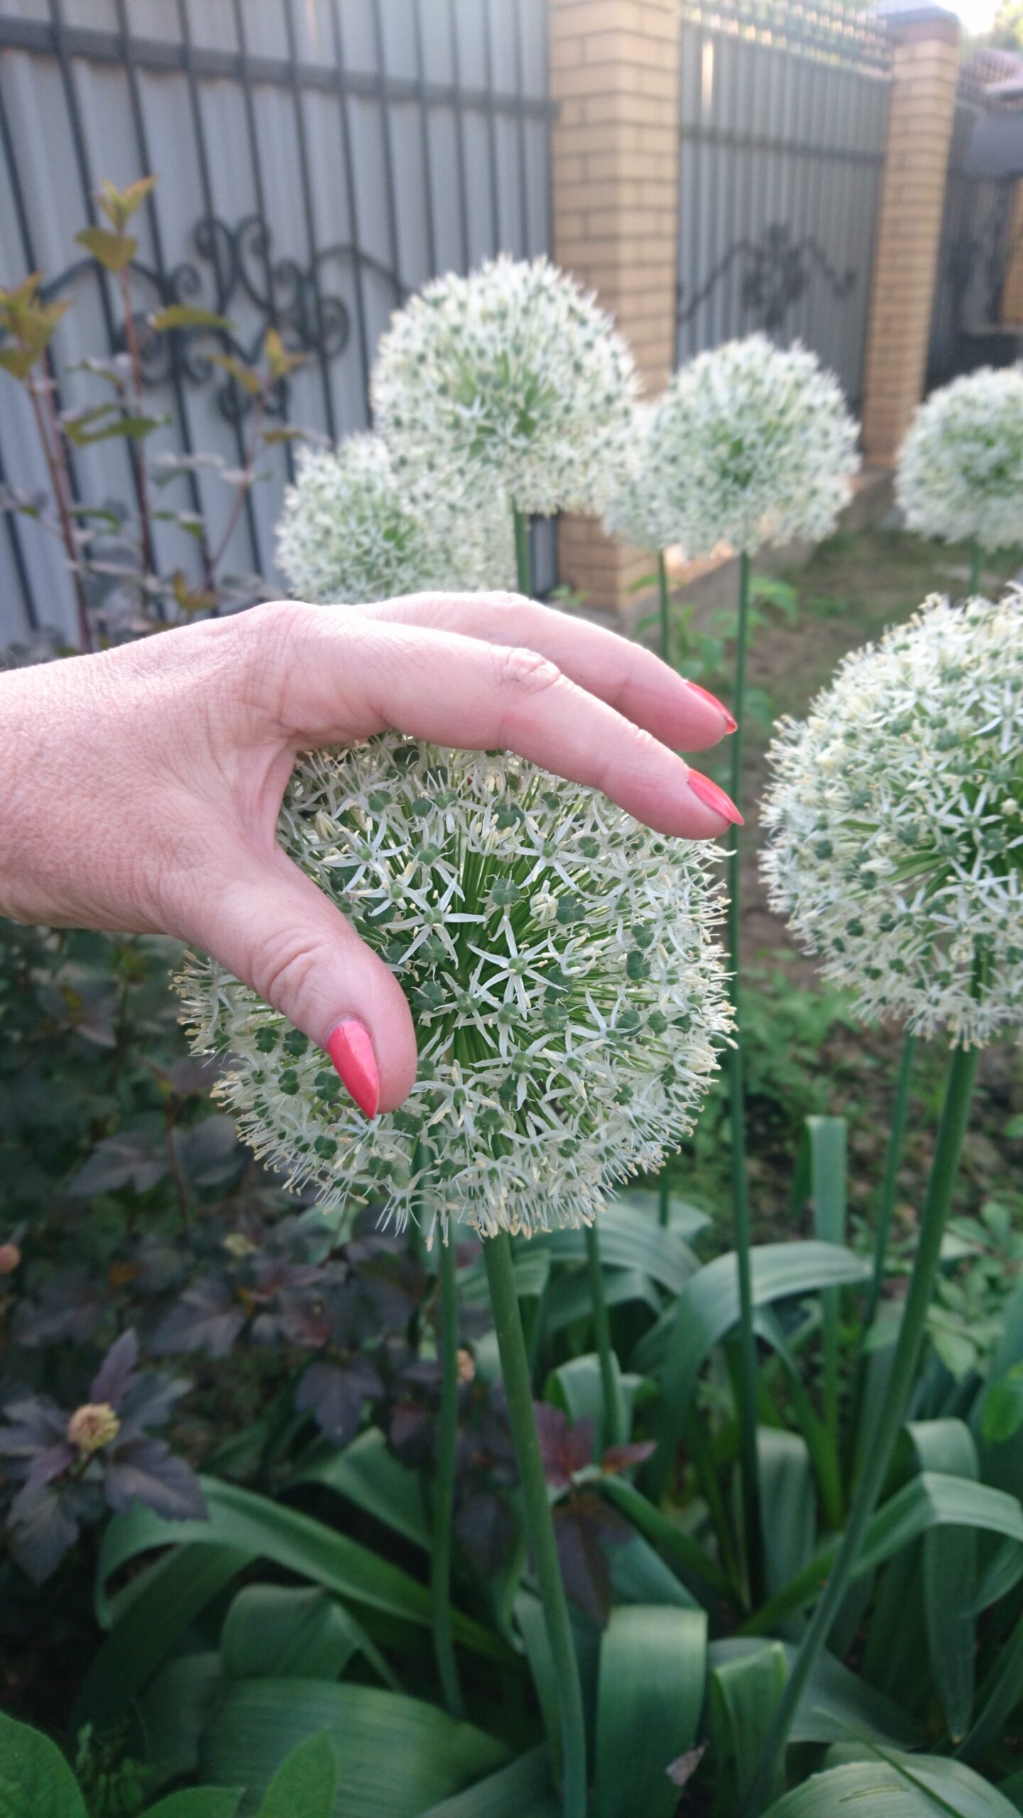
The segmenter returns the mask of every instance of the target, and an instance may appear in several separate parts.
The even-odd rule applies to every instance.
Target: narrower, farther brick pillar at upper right
[[[892,467],[923,396],[930,309],[956,115],[959,20],[936,5],[890,11],[892,111],[881,176],[863,449]]]

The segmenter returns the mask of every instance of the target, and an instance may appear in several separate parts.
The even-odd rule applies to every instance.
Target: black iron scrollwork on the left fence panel
[[[364,271],[375,273],[393,293],[395,304],[406,296],[393,271],[349,244],[328,245],[315,253],[308,265],[295,258],[273,255],[273,235],[260,215],[246,215],[229,227],[217,215],[204,215],[191,233],[193,258],[182,260],[167,273],[133,260],[135,280],[151,285],[155,298],[149,311],[135,315],[142,382],[162,385],[173,378],[191,385],[209,385],[217,380],[217,407],[228,422],[238,422],[251,409],[248,393],[215,365],[211,355],[229,353],[246,365],[260,356],[268,327],[275,327],[289,353],[317,360],[337,360],[351,340],[348,304],[324,289],[324,276],[333,265],[349,265],[355,282]],[[82,273],[96,271],[95,260],[84,258],[53,278],[44,295],[67,289]],[[169,304],[189,304],[218,316],[231,316],[233,307],[248,304],[246,316],[257,311],[257,324],[244,340],[238,329],[180,327],[155,335],[147,316]],[[118,349],[127,345],[124,325],[118,331]],[[269,415],[288,411],[288,382],[280,380],[268,402]]]

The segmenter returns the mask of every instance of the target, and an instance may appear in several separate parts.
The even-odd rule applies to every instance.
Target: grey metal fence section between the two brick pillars
[[[863,395],[890,47],[815,0],[683,4],[677,356],[763,329]]]

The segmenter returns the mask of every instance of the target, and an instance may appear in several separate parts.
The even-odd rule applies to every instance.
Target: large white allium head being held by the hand
[[[388,733],[297,767],[284,849],[406,989],[419,1078],[368,1122],[324,1054],[217,964],[180,989],[217,1093],[326,1207],[486,1236],[590,1222],[692,1125],[730,1027],[714,853],[504,753]]]

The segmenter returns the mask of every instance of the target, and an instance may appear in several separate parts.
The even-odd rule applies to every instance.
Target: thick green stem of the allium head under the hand
[[[553,1678],[557,1685],[557,1703],[561,1714],[561,1754],[562,1754],[562,1813],[564,1818],[586,1818],[586,1722],[582,1716],[582,1685],[579,1682],[579,1662],[572,1638],[572,1618],[561,1580],[557,1558],[557,1540],[550,1513],[550,1496],[544,1480],[544,1462],[537,1438],[537,1420],[533,1414],[533,1391],[526,1345],[522,1340],[522,1320],[519,1316],[519,1298],[515,1294],[515,1267],[512,1262],[512,1240],[502,1231],[495,1238],[484,1238],[482,1254],[486,1258],[486,1280],[490,1285],[490,1304],[497,1329],[497,1349],[501,1353],[501,1376],[508,1398],[508,1422],[519,1460],[519,1482],[522,1485],[522,1503],[526,1511],[526,1536],[533,1554],[533,1567],[541,1587],[544,1607],[544,1625],[552,1653]]]

